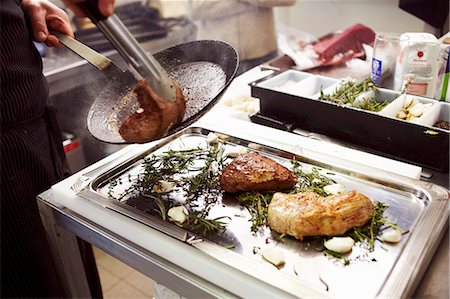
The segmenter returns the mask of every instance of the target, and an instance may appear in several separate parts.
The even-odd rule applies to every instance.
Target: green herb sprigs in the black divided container
[[[374,112],[380,111],[388,104],[388,101],[378,102],[373,97],[358,99],[358,101],[355,101],[360,94],[368,91],[373,91],[375,94],[379,92],[375,83],[373,83],[370,78],[363,81],[348,80],[342,82],[333,93],[325,94],[321,89],[319,99],[336,103],[338,105],[349,105],[351,107]]]

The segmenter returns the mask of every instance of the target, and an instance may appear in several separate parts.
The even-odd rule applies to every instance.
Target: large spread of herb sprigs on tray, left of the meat
[[[120,194],[116,195],[114,191],[122,185],[122,178],[111,181],[108,195],[116,200],[135,197],[148,200],[154,204],[153,212],[164,221],[167,211],[178,205],[182,197],[189,211],[189,224],[193,231],[202,235],[221,232],[226,223],[220,219],[225,217],[207,217],[223,192],[220,188],[223,162],[223,147],[220,144],[207,148],[168,150],[145,158],[142,172],[135,176],[128,174],[126,178],[130,186]],[[158,193],[154,186],[160,186],[160,181],[176,182],[177,187],[164,194]],[[201,207],[201,211],[196,211],[198,207]]]

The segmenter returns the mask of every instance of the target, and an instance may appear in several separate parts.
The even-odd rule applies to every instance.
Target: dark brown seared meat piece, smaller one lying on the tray
[[[222,171],[220,186],[227,192],[280,191],[294,187],[295,175],[256,152],[239,155]]]

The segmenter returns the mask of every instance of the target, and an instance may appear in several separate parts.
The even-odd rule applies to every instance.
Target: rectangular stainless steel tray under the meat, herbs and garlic
[[[191,244],[205,254],[294,296],[405,297],[414,290],[448,223],[449,192],[434,184],[406,178],[400,183],[386,181],[358,169],[343,170],[294,153],[228,136],[224,141],[226,147],[244,146],[287,167],[290,167],[290,159],[295,158],[304,169],[316,167],[322,174],[343,184],[346,190],[356,189],[372,201],[389,205],[385,212],[388,219],[409,233],[403,235],[401,242],[395,245],[376,241],[373,252],[355,246],[349,256],[351,263],[347,266],[314,250],[308,241],[300,242],[294,238],[277,240],[278,234],[272,233],[269,228],[252,233],[249,213],[233,196],[224,196],[211,209],[211,218],[228,216],[230,220],[227,221],[224,234],[208,239],[138,210],[128,205],[126,200],[119,202],[108,197],[110,180],[138,173],[146,156],[167,149],[206,146],[209,133],[203,128],[185,129],[154,148],[104,171],[79,195]],[[121,188],[126,187],[126,184],[124,182]],[[232,248],[229,249],[230,245]],[[286,264],[280,269],[255,253],[255,248],[273,246],[282,250],[286,257]]]

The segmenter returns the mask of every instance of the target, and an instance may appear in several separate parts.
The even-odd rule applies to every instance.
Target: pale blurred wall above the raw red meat
[[[398,7],[398,0],[297,0],[289,7],[277,7],[278,22],[316,37],[356,23],[375,32],[433,32],[422,20]]]

